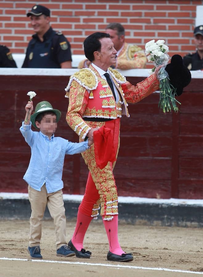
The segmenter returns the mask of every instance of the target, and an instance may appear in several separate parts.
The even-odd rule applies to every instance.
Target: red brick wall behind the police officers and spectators
[[[171,56],[184,56],[195,51],[196,6],[203,5],[203,0],[0,0],[0,43],[13,53],[25,53],[33,34],[26,13],[35,4],[51,10],[51,25],[67,37],[72,54],[84,54],[82,43],[87,35],[104,31],[110,22],[120,22],[126,42],[144,48],[151,39],[164,39]]]

